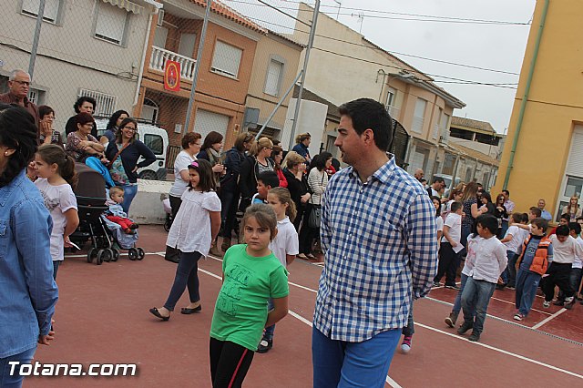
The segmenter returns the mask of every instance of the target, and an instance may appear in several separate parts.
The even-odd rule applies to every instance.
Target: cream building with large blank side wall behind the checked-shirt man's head
[[[299,6],[299,17],[309,24],[313,8]],[[298,40],[308,32],[296,23]],[[305,87],[336,106],[359,97],[383,103],[411,137],[406,169],[423,168],[427,177],[441,171],[450,118],[455,108],[465,107],[431,77],[324,14],[318,16]]]

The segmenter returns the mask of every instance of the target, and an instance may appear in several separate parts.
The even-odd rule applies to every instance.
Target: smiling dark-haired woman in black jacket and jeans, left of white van
[[[109,160],[109,173],[116,186],[124,189],[124,201],[121,207],[128,213],[131,201],[138,193],[138,168],[149,166],[156,161],[156,156],[144,143],[136,139],[138,122],[127,117],[119,125],[116,141],[107,145],[106,158]],[[144,160],[138,163],[138,158]]]

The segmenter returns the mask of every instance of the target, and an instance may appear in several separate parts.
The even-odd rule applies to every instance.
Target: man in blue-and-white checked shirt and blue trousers
[[[360,98],[340,114],[335,145],[350,167],[332,176],[322,200],[313,386],[384,387],[413,300],[430,291],[437,269],[435,208],[387,153],[383,105]]]

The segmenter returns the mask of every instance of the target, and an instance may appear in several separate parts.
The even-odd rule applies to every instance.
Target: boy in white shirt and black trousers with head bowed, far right
[[[553,262],[548,266],[547,277],[543,283],[545,292],[543,307],[550,306],[555,297],[555,286],[558,286],[565,294],[565,308],[570,310],[576,301],[575,289],[570,281],[571,268],[575,256],[583,257],[583,248],[569,235],[568,225],[559,225],[555,233],[549,238],[553,243]]]

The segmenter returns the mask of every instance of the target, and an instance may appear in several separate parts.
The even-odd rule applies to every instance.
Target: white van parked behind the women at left
[[[107,128],[107,118],[97,118],[97,135],[101,137]],[[151,124],[138,123],[138,139],[141,140],[156,155],[156,161],[149,166],[138,168],[139,179],[166,179],[166,155],[169,139],[166,130]],[[107,145],[106,145],[107,148]],[[139,158],[138,163],[144,160]]]

